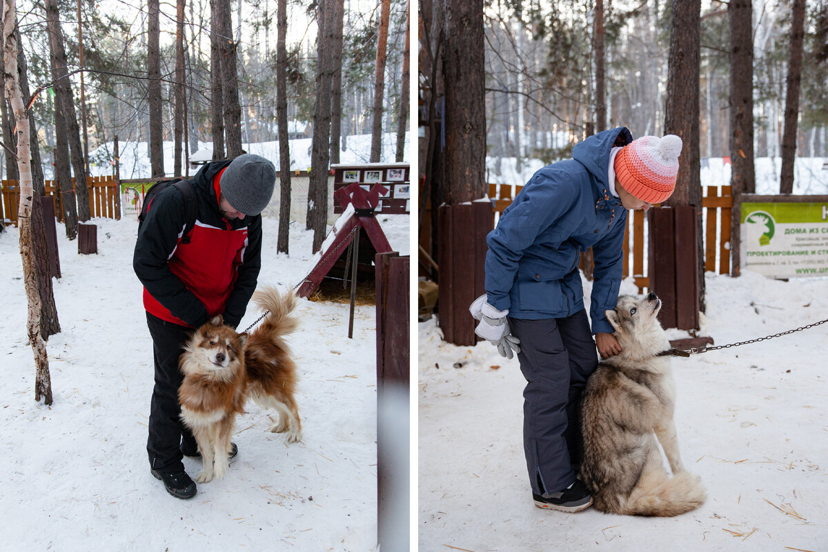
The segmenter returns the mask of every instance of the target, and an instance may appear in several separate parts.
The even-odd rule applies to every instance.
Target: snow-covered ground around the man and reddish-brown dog
[[[409,253],[409,217],[380,215]],[[376,315],[301,300],[288,338],[300,369],[304,436],[286,444],[250,404],[236,425],[238,457],[190,501],[166,493],[147,463],[152,340],[132,272],[134,218],[97,218],[97,255],[79,255],[58,225],[62,331],[47,343],[54,404],[34,401],[26,295],[16,228],[0,233],[0,550],[374,550],[377,535]],[[312,233],[263,219],[260,285],[290,288],[310,269]],[[253,306],[239,324],[247,328]],[[200,459],[185,458],[195,476]]]

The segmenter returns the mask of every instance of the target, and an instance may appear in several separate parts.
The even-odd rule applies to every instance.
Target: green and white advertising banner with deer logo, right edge
[[[774,278],[828,276],[828,203],[743,203],[741,264]]]

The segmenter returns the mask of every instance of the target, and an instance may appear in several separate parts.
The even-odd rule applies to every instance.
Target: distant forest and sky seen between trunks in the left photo
[[[151,2],[149,2],[152,4]],[[183,44],[185,74],[186,142],[189,152],[199,149],[199,142],[211,142],[214,121],[211,113],[210,36],[214,33],[209,0],[180,2],[183,10]],[[241,142],[277,140],[277,0],[232,0],[222,4],[231,19],[231,32],[237,46],[238,105],[241,108]],[[325,2],[286,2],[286,99],[291,130],[299,129],[310,137],[315,112],[315,79],[318,65],[316,39],[317,12]],[[330,5],[335,2],[328,2]],[[402,56],[406,39],[407,2],[403,0],[345,0],[342,52],[338,66],[341,74],[341,137],[370,133],[373,124],[373,98],[378,50],[378,26],[383,3],[388,4],[388,42],[384,79],[388,83],[383,95],[382,126],[387,132],[397,130],[401,98],[409,95],[402,82]],[[87,149],[94,149],[118,136],[120,142],[150,140],[151,108],[148,98],[152,82],[147,77],[147,26],[152,23],[147,3],[123,0],[24,0],[17,7],[20,47],[26,56],[28,81],[36,94],[30,117],[38,127],[42,165],[51,173],[56,148],[55,83],[50,62],[50,33],[46,25],[46,8],[59,13],[64,41],[68,81],[81,117],[80,80],[84,78]],[[161,88],[161,139],[174,138],[176,103],[176,3],[160,2],[157,20],[160,26],[158,62]],[[330,11],[331,7],[325,7]],[[79,25],[80,22],[80,25]],[[82,34],[79,36],[79,27]],[[82,44],[83,58],[79,44]],[[83,70],[80,70],[83,68]],[[41,89],[44,85],[46,88]],[[14,122],[4,113],[4,136],[10,137]],[[219,118],[220,120],[220,118]],[[81,129],[84,130],[83,128]],[[149,151],[149,148],[147,148]],[[89,164],[109,164],[92,157]],[[393,154],[392,154],[393,155]],[[335,162],[335,161],[334,161]],[[0,160],[2,174],[7,175],[8,160]],[[12,168],[12,173],[14,172]],[[154,169],[153,172],[156,172]],[[164,167],[166,175],[178,174]],[[12,174],[13,176],[13,174]],[[50,175],[51,176],[51,175]],[[149,175],[147,175],[149,176]]]

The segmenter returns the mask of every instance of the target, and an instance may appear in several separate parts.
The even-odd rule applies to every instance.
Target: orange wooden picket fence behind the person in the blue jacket
[[[494,207],[495,223],[522,185],[490,184],[489,199]],[[730,273],[730,212],[733,208],[732,186],[705,186],[701,200],[702,228],[705,242],[705,271]],[[623,241],[623,277],[632,275],[638,290],[650,286],[647,254],[649,250],[647,216],[630,211]],[[718,254],[717,254],[718,253]],[[718,258],[718,263],[717,263]]]

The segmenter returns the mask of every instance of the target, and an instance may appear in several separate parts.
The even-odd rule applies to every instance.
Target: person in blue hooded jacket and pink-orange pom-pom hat
[[[472,305],[475,331],[504,357],[514,350],[527,380],[523,444],[538,507],[581,511],[592,503],[575,478],[577,406],[598,366],[596,345],[603,358],[621,352],[604,311],[618,300],[627,211],[670,197],[680,152],[674,135],[633,141],[625,127],[599,132],[576,144],[572,159],[532,175],[486,238],[486,295]],[[578,271],[588,247],[590,319]]]

